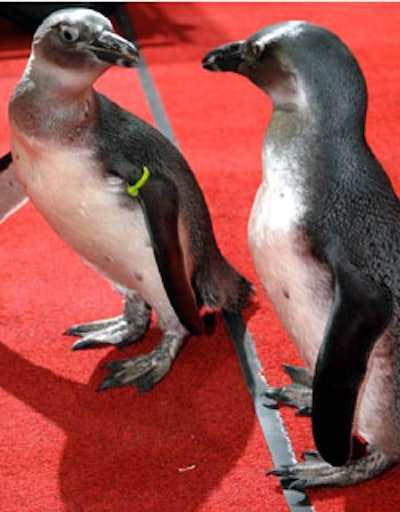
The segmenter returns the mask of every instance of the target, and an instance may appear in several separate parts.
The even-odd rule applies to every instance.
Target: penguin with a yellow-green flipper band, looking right
[[[33,36],[9,120],[11,159],[27,197],[125,299],[121,316],[69,328],[80,337],[73,348],[134,343],[156,313],[159,345],[111,363],[100,385],[144,393],[165,377],[187,337],[205,331],[206,312],[239,314],[252,286],[220,252],[177,148],[93,89],[110,66],[138,61],[134,44],[102,14],[58,10]]]

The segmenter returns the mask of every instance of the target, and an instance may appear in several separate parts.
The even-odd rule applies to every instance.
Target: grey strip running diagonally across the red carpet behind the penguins
[[[134,30],[127,16],[126,13],[124,14],[123,11],[120,11],[117,16],[118,24],[125,37],[136,42]],[[158,129],[178,146],[143,54],[141,56],[141,64],[138,67],[138,73]],[[257,356],[254,341],[240,315],[230,315],[224,312],[223,316],[230,338],[235,346],[247,388],[253,397],[257,418],[271,452],[273,462],[276,466],[292,464],[296,459],[281,415],[277,409],[271,409],[265,405],[267,399],[264,394],[268,384],[263,376],[262,366]],[[315,512],[305,493],[283,489],[283,494],[291,512]]]

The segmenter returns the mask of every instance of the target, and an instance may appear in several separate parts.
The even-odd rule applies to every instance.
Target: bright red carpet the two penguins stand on
[[[283,384],[280,365],[301,362],[264,298],[246,241],[270,103],[242,77],[202,70],[201,57],[284,19],[333,29],[364,70],[368,139],[400,192],[400,5],[139,3],[129,11],[220,246],[257,284],[259,308],[248,314],[248,327],[268,381]],[[0,34],[4,153],[6,105],[29,37],[5,22]],[[113,69],[97,88],[153,122],[136,71]],[[117,314],[121,300],[30,204],[0,226],[0,280],[0,510],[288,510],[277,480],[264,476],[272,461],[221,320],[215,336],[188,341],[149,394],[96,393],[104,363],[150,350],[159,332],[123,352],[72,352],[65,328]],[[299,456],[312,447],[309,421],[281,412]],[[308,494],[317,512],[389,512],[398,508],[399,483],[395,468],[354,488]]]

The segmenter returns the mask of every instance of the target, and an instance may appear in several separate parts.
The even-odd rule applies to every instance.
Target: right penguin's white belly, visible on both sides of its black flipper
[[[249,242],[258,275],[300,356],[314,371],[332,305],[329,271],[312,257],[296,228],[304,213],[299,198],[284,187],[257,192]],[[355,425],[365,439],[400,459],[398,428],[390,407],[393,346],[382,337],[373,350],[358,399]]]

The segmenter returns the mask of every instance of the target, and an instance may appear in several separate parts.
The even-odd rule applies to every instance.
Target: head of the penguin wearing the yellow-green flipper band
[[[92,82],[111,65],[133,67],[138,61],[135,45],[117,35],[108,18],[68,8],[52,13],[36,30],[29,67],[64,78],[69,72],[77,79],[86,75]]]

